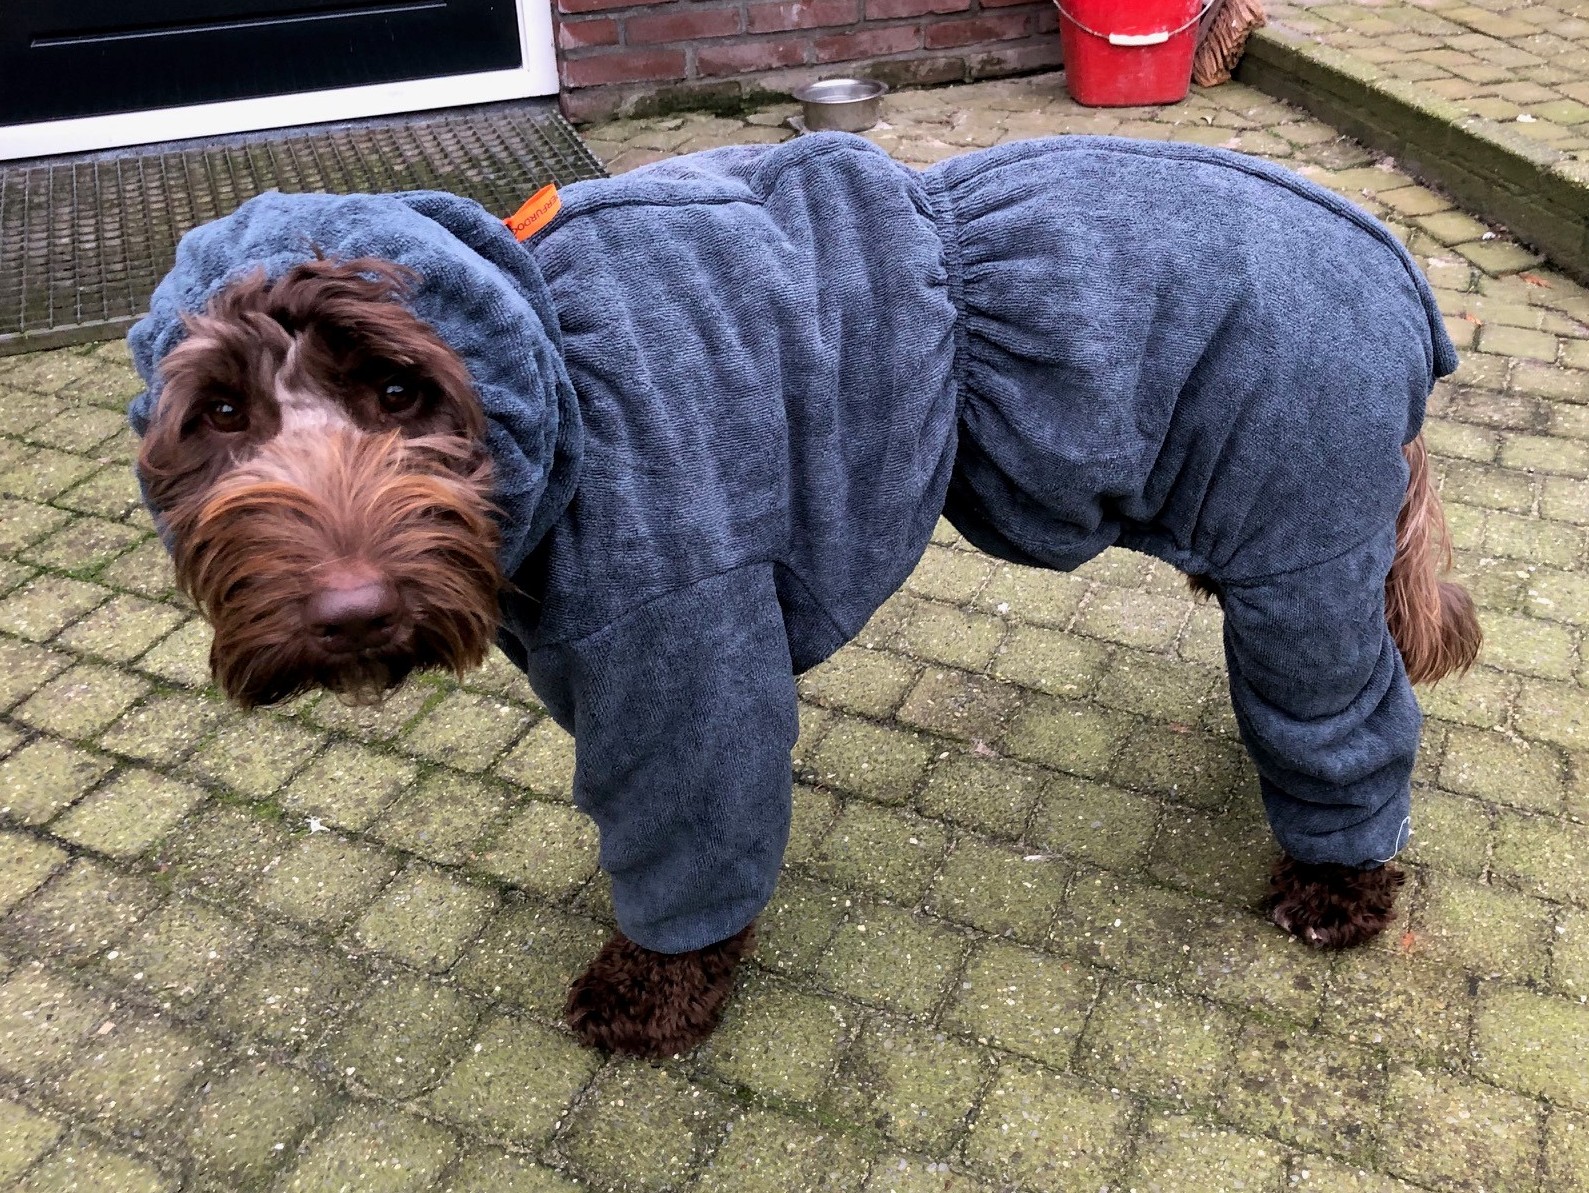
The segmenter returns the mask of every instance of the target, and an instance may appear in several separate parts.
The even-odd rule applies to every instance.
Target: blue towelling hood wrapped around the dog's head
[[[534,259],[478,203],[434,191],[396,195],[267,192],[195,227],[127,342],[148,391],[127,416],[140,435],[160,400],[159,364],[229,281],[272,278],[327,257],[383,257],[419,275],[408,307],[462,357],[489,424],[502,573],[513,575],[574,492],[580,419],[558,316]],[[159,510],[153,510],[156,516]]]

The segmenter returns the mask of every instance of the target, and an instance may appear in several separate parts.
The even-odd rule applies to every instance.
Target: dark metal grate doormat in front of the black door
[[[508,214],[547,183],[604,175],[551,103],[0,165],[0,354],[118,338],[181,234],[261,191],[437,189]]]

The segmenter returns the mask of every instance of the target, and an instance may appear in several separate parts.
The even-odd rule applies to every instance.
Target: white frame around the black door
[[[523,65],[408,83],[373,83],[364,87],[310,91],[297,95],[264,95],[253,100],[195,103],[186,108],[126,111],[113,116],[79,116],[65,121],[0,125],[0,160],[46,157],[89,149],[116,149],[151,141],[216,137],[229,132],[286,129],[361,116],[453,108],[461,103],[493,103],[531,95],[558,94],[558,57],[551,44],[550,0],[515,0]]]

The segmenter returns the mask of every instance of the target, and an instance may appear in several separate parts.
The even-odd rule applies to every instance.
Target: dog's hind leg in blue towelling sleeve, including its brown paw
[[[1219,585],[1243,740],[1286,850],[1270,913],[1320,947],[1394,917],[1422,716],[1386,624],[1390,527],[1340,556]]]

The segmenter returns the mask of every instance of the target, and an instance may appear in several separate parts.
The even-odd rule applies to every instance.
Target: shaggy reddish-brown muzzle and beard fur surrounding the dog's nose
[[[497,534],[486,465],[462,477],[447,467],[464,450],[335,437],[313,489],[256,467],[173,515],[178,580],[215,626],[210,667],[230,699],[256,707],[324,688],[370,704],[415,670],[462,675],[485,661]],[[335,656],[305,632],[302,610],[316,575],[346,562],[385,577],[405,616],[381,648]]]

